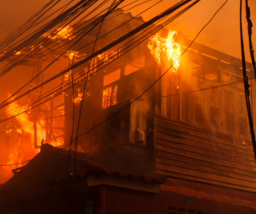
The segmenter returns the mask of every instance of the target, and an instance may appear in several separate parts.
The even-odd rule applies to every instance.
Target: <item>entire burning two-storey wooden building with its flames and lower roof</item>
[[[54,69],[40,74],[45,62],[59,58],[57,66],[70,67],[143,23],[119,9],[79,42],[74,26],[42,35],[53,46],[74,45],[64,54],[43,49],[23,64],[34,68],[30,89],[40,87],[7,109],[27,123],[10,124],[0,141],[7,162],[32,159],[13,167],[2,185],[1,213],[256,212],[240,59],[190,46],[182,33],[162,29],[129,49],[138,35],[131,37],[40,85],[57,75]],[[246,68],[254,92],[253,66]],[[254,111],[253,93],[250,99]],[[26,108],[23,119],[12,112]]]

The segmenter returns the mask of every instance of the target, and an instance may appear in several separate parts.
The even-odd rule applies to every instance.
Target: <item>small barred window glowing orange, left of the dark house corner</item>
[[[117,104],[117,86],[108,87],[103,90],[102,109]]]

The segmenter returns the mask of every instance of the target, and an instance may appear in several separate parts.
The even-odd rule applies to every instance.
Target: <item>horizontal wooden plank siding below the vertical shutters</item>
[[[227,95],[231,96],[230,91]],[[227,102],[234,101],[230,97]],[[217,109],[218,103],[214,100],[212,105]],[[243,115],[244,106],[238,106],[237,111]],[[213,109],[212,114],[217,116],[218,111]],[[229,125],[226,127],[232,131]],[[155,130],[157,173],[256,192],[256,162],[251,142],[162,116],[156,116]]]

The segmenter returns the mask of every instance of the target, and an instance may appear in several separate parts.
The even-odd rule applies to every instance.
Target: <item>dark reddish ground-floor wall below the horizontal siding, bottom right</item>
[[[102,193],[105,205],[97,214],[256,214],[256,207],[182,194],[178,189],[149,194],[105,186]]]

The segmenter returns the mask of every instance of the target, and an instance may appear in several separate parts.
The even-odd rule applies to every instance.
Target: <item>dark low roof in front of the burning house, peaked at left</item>
[[[9,181],[3,184],[0,193],[11,188],[27,188],[38,184],[51,186],[58,182],[64,182],[66,170],[69,174],[66,180],[73,180],[75,178],[74,151],[71,152],[70,164],[67,168],[68,152],[66,149],[60,150],[60,148],[49,144],[42,145],[41,151],[27,165],[20,168]],[[104,154],[102,156],[104,157]],[[166,180],[166,176],[160,174],[145,175],[124,168],[114,168],[106,165],[106,162],[102,163],[86,158],[86,154],[81,152],[77,152],[76,162],[78,179],[92,174],[98,177],[109,174],[158,184],[164,183]]]

